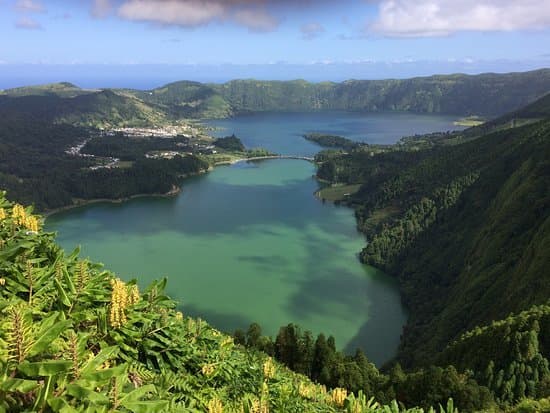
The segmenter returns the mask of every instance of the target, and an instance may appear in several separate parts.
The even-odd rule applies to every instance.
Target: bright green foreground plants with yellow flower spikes
[[[327,391],[40,227],[0,195],[1,412],[423,412]]]

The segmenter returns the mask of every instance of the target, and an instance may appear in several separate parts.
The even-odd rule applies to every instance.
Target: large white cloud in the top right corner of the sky
[[[381,0],[370,30],[395,37],[550,27],[550,0]]]

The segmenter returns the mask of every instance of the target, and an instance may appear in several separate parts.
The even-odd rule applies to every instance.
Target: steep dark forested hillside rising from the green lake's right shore
[[[361,258],[399,278],[410,309],[398,359],[434,362],[461,332],[550,297],[550,120],[467,143],[335,155],[328,180],[362,183],[348,201]]]

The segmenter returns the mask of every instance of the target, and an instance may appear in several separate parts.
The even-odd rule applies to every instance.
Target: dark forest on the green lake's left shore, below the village
[[[124,168],[92,169],[95,163],[91,158],[65,153],[89,138],[88,130],[83,128],[26,117],[0,118],[0,187],[13,199],[45,211],[79,200],[164,194],[177,187],[183,176],[205,171],[209,166],[192,155],[147,159],[144,151],[159,143],[154,139],[142,140],[141,146],[125,147],[119,153],[114,138],[104,155],[116,154],[134,162]],[[88,143],[92,149],[101,147],[92,142]],[[175,145],[170,140],[160,143]]]

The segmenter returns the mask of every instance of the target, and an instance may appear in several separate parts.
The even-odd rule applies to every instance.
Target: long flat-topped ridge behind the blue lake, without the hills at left
[[[410,111],[495,117],[517,110],[550,92],[550,69],[524,73],[437,75],[413,79],[233,80],[204,85],[176,82],[146,92],[146,102],[186,115],[225,117],[261,111]],[[177,111],[176,111],[177,113]]]

